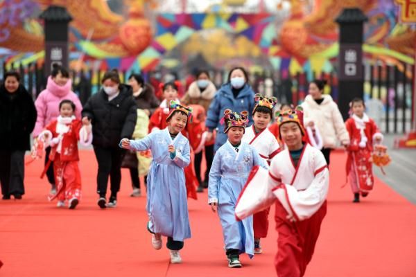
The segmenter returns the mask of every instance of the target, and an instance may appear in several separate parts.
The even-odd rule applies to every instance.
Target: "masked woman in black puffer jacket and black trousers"
[[[137,105],[132,98],[132,88],[120,83],[117,71],[105,73],[102,84],[103,88],[85,104],[83,118],[92,120],[92,144],[98,162],[98,206],[105,208],[117,204],[124,154],[119,142],[122,138],[130,138],[135,130]],[[109,176],[111,195],[107,203],[105,195]]]

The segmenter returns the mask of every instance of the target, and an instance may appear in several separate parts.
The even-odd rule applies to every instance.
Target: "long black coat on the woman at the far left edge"
[[[30,150],[37,112],[32,96],[19,85],[15,93],[0,86],[0,150]]]

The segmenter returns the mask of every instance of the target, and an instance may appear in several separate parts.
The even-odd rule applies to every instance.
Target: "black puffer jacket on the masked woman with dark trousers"
[[[83,117],[92,119],[93,145],[116,148],[122,138],[130,138],[135,130],[137,105],[132,88],[120,84],[119,90],[119,95],[108,101],[107,94],[100,89],[84,106]]]

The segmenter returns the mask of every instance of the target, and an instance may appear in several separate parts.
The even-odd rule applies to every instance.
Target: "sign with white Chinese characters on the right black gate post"
[[[340,80],[363,80],[362,57],[360,44],[340,45]]]

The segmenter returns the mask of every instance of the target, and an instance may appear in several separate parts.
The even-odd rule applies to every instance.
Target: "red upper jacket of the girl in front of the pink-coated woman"
[[[52,137],[56,138],[59,134],[56,132],[56,125],[58,125],[58,120],[53,120],[49,125],[46,126],[46,129],[52,133]],[[60,152],[61,161],[79,161],[78,156],[78,141],[80,140],[80,129],[83,127],[83,124],[79,119],[72,120],[69,123],[69,130],[62,136],[62,148]],[[55,145],[52,148],[49,159],[53,161],[55,158],[56,148],[58,145]]]

